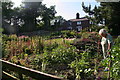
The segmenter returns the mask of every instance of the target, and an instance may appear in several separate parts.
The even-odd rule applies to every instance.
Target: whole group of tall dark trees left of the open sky
[[[50,21],[54,19],[56,14],[55,6],[47,8],[42,2],[23,2],[20,7],[15,8],[13,8],[13,2],[5,2],[2,5],[2,10],[3,23],[12,24],[12,26],[19,28],[20,32],[37,30],[39,21],[43,22],[45,29],[50,28]]]

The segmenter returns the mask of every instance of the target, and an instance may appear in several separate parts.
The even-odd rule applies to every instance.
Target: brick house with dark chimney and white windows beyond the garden
[[[76,14],[76,19],[70,19],[63,24],[62,29],[65,30],[77,30],[81,31],[84,28],[90,26],[90,21],[86,17],[79,17],[79,13]]]

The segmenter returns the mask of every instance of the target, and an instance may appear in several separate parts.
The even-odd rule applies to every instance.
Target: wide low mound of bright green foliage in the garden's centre
[[[56,45],[55,45],[56,46]],[[46,48],[45,48],[46,49]],[[46,49],[44,52],[44,61],[49,64],[68,64],[74,60],[76,56],[75,47],[65,47],[62,45],[57,45],[52,49]]]

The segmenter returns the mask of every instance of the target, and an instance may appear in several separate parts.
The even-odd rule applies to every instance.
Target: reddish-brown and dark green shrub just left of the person
[[[98,42],[100,41],[100,36],[96,32],[83,32],[81,33],[80,39],[75,39],[73,41],[73,45],[77,47],[77,49],[81,51],[87,51],[89,56],[97,57],[96,52],[98,49]],[[101,50],[101,48],[100,48]],[[99,51],[100,51],[99,50]]]

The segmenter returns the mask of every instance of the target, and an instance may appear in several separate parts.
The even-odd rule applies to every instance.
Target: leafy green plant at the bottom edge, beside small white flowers
[[[89,68],[89,62],[86,60],[86,53],[81,53],[79,56],[76,57],[74,61],[69,64],[69,66],[73,69],[75,69],[76,73],[76,79],[80,80],[82,79],[83,73],[89,73],[91,69]],[[88,69],[89,68],[89,69]]]

